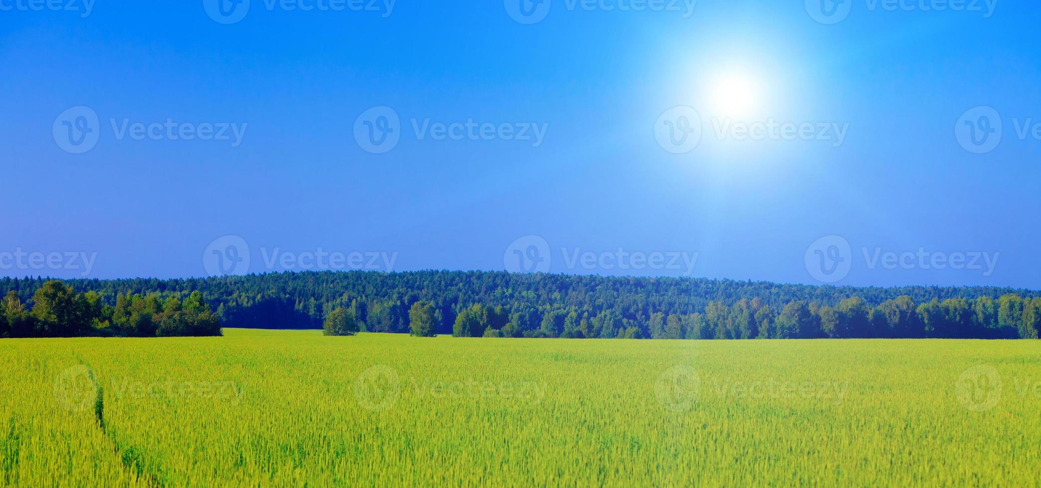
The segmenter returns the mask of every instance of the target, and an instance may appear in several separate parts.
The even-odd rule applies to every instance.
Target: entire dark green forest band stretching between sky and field
[[[989,287],[330,271],[2,278],[0,294],[0,336],[211,335],[222,326],[328,331],[327,319],[352,331],[493,337],[1038,338],[1041,329],[1041,293]],[[50,311],[58,296],[73,311]]]

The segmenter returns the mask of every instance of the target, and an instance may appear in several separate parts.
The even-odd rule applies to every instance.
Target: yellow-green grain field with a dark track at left
[[[1037,341],[0,341],[0,484],[1036,486]]]

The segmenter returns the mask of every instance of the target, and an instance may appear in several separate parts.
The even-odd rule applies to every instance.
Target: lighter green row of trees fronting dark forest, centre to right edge
[[[332,316],[349,317],[350,327],[330,326],[329,335],[350,335],[362,329],[353,309],[336,308]],[[409,310],[412,335],[434,335],[441,315],[433,303],[415,302]],[[462,309],[452,326],[457,337],[562,338],[1038,338],[1041,298],[1014,294],[997,300],[933,299],[915,304],[910,296],[870,306],[850,297],[837,306],[796,300],[775,313],[762,299],[740,299],[734,305],[709,302],[704,311],[689,315],[652,313],[645,321],[626,319],[613,310],[589,311],[551,307],[507,310],[480,303]]]

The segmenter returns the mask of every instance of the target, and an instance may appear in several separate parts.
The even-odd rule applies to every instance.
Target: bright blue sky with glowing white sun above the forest
[[[0,0],[0,274],[203,276],[215,245],[240,272],[1041,288],[1037,6],[511,1]],[[366,113],[399,120],[379,154]]]

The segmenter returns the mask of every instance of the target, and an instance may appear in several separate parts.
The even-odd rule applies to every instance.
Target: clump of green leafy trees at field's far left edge
[[[175,294],[119,294],[106,303],[95,291],[76,293],[48,280],[23,302],[8,290],[0,301],[0,337],[221,335],[221,323],[199,291],[183,301]]]

